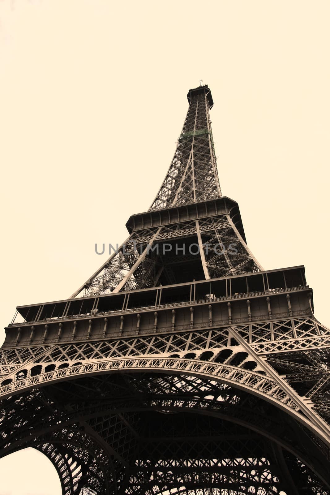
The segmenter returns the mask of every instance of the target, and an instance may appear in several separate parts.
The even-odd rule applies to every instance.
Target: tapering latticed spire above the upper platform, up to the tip
[[[207,84],[190,89],[189,108],[170,168],[149,210],[219,198],[221,189],[209,110]]]

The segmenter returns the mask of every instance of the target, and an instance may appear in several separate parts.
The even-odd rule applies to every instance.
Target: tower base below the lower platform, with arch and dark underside
[[[329,349],[300,318],[2,350],[2,454],[65,494],[328,494]]]

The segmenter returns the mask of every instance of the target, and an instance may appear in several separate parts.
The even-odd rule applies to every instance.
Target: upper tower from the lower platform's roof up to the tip
[[[236,201],[221,194],[209,115],[211,91],[199,86],[190,89],[187,98],[184,127],[156,198],[146,213],[130,217],[129,238],[72,297],[262,270],[246,246]]]

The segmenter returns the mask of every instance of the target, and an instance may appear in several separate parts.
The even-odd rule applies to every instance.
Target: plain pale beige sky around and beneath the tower
[[[265,269],[305,264],[329,326],[329,25],[328,0],[0,0],[1,327],[69,297],[105,261],[94,244],[127,237],[200,79],[249,247]],[[59,495],[56,477],[21,451],[0,495]]]

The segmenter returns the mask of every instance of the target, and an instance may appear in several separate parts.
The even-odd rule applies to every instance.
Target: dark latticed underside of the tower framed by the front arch
[[[76,463],[81,495],[115,487],[214,495],[219,486],[221,495],[279,495],[307,480],[326,486],[306,428],[273,402],[210,377],[122,370],[48,383],[17,400],[40,407],[45,397],[59,406],[51,414],[46,404],[35,408],[30,445],[52,445]]]

